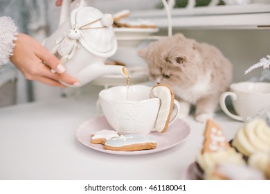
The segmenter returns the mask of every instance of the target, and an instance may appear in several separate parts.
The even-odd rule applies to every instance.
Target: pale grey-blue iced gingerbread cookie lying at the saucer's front
[[[156,148],[156,140],[141,134],[126,134],[109,139],[104,148],[114,151],[150,150]]]

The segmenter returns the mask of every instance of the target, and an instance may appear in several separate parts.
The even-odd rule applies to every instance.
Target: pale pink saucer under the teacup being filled
[[[172,148],[179,143],[183,142],[188,135],[190,134],[190,126],[177,118],[170,127],[168,127],[167,132],[159,133],[159,132],[151,132],[148,136],[152,136],[156,139],[156,148],[153,150],[140,150],[133,152],[125,152],[125,151],[111,151],[105,150],[103,145],[93,144],[91,143],[91,134],[92,132],[96,132],[99,130],[113,130],[109,123],[107,122],[105,116],[96,116],[89,121],[85,121],[80,125],[77,129],[76,136],[77,139],[84,145],[93,150],[98,150],[100,152],[106,152],[114,155],[144,155],[150,154],[154,152],[161,152],[163,150],[167,150]]]

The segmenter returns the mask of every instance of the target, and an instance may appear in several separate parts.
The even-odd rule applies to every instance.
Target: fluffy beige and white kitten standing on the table
[[[162,37],[138,55],[147,62],[150,78],[168,85],[180,103],[180,118],[195,105],[195,120],[213,118],[219,97],[232,80],[232,64],[215,46],[196,42],[182,34]]]

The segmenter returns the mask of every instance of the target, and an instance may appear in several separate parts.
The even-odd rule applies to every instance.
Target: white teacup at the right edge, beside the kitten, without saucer
[[[226,97],[231,96],[236,114],[226,107]],[[220,97],[220,106],[225,114],[237,121],[248,121],[270,107],[270,83],[238,82],[230,86]]]

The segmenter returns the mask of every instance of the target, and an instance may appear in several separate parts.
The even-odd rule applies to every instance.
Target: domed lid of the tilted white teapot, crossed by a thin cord
[[[71,12],[71,26],[81,28],[82,46],[93,55],[109,58],[117,49],[116,36],[111,26],[113,19],[104,21],[100,10],[93,7],[76,8]]]

